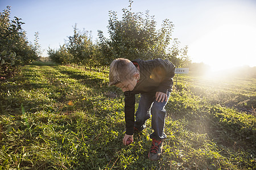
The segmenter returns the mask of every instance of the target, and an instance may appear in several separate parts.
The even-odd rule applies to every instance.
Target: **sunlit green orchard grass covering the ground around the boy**
[[[0,169],[255,169],[255,84],[179,75],[151,162],[150,120],[122,145],[123,94],[108,71],[37,62],[0,84]]]

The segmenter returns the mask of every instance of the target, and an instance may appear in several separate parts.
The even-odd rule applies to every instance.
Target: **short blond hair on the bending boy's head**
[[[115,59],[110,64],[109,86],[124,82],[126,80],[131,80],[135,73],[137,73],[137,69],[129,59]]]

